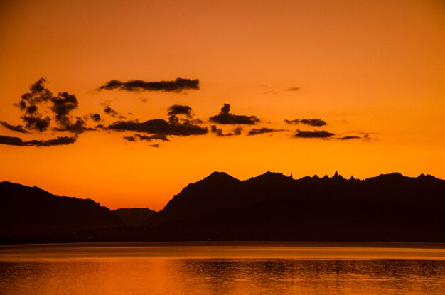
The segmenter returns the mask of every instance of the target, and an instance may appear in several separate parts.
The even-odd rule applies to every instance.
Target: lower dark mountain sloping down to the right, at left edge
[[[0,183],[0,232],[45,232],[122,227],[108,208],[87,199],[58,197],[36,186]]]

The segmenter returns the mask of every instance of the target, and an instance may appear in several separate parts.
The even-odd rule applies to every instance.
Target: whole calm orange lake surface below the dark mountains
[[[365,245],[0,246],[0,293],[445,294],[444,247]]]

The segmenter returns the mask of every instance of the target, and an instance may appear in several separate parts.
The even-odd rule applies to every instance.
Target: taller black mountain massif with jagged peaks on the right
[[[160,240],[445,242],[445,181],[213,173],[146,220]]]

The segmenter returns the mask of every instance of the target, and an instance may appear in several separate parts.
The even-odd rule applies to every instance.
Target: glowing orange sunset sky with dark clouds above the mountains
[[[225,171],[445,178],[443,1],[0,1],[0,181],[161,210]]]

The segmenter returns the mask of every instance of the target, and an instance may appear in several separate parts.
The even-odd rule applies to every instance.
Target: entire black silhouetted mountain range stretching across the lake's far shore
[[[3,243],[176,240],[445,242],[445,181],[214,172],[159,212],[0,183]]]

